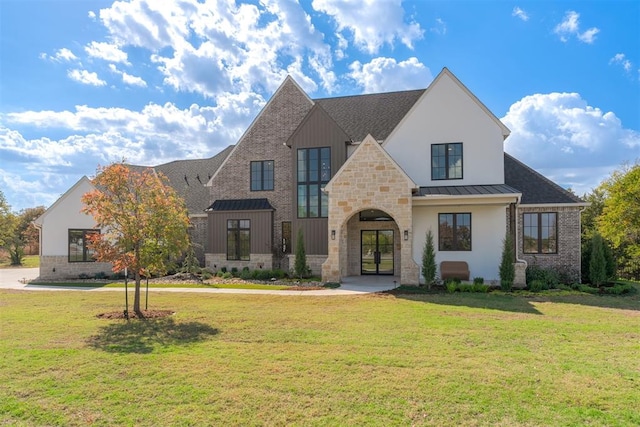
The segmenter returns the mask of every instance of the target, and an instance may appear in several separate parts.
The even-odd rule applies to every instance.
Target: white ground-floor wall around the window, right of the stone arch
[[[452,212],[471,213],[471,251],[438,251],[438,214]],[[422,266],[426,233],[431,228],[436,249],[438,277],[440,277],[441,261],[466,261],[471,272],[470,280],[474,277],[483,277],[485,282],[498,280],[498,267],[506,226],[504,205],[414,206],[413,259]]]

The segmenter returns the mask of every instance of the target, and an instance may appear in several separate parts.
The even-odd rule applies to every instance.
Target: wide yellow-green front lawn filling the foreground
[[[640,424],[640,297],[0,291],[0,425]]]

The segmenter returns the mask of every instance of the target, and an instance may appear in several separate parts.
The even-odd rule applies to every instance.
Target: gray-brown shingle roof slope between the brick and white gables
[[[362,141],[367,134],[386,139],[409,112],[425,89],[369,95],[314,99],[351,137]]]

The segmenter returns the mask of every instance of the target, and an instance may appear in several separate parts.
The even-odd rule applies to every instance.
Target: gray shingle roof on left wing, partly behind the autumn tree
[[[176,160],[152,167],[169,179],[169,185],[182,197],[190,215],[201,214],[209,206],[209,188],[204,185],[227,158],[233,145],[208,159]],[[128,165],[134,170],[147,166]]]

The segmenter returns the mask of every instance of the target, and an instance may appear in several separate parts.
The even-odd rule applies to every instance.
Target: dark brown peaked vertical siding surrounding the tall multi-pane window
[[[331,176],[333,177],[347,159],[347,140],[349,140],[348,135],[318,106],[309,112],[309,115],[289,139],[291,164],[293,165],[291,173],[293,180],[291,199],[293,203],[291,224],[293,251],[295,251],[298,229],[302,229],[305,251],[309,255],[326,255],[328,239],[327,218],[297,217],[297,150],[307,147],[331,147]]]

